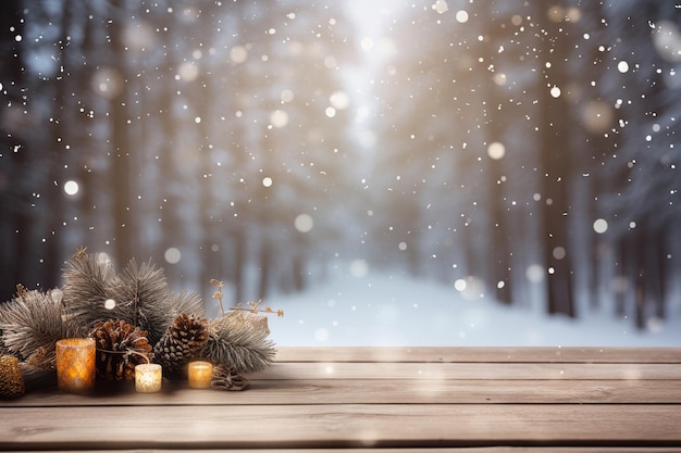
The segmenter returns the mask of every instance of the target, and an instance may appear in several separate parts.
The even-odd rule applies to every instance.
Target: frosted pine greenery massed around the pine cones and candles
[[[58,340],[86,337],[97,323],[115,319],[146,330],[145,340],[153,347],[178,316],[203,315],[200,295],[171,291],[163,269],[150,262],[137,264],[131,260],[116,274],[106,254],[88,254],[81,248],[66,262],[63,277],[62,288],[50,292],[27,291],[18,286],[17,297],[0,305],[0,352],[17,356],[34,383],[53,378],[53,373],[42,370],[54,367]],[[240,373],[271,365],[276,350],[268,339],[265,315],[283,316],[284,312],[249,302],[248,307],[238,304],[225,313],[224,284],[211,284],[218,287],[213,298],[220,302],[222,316],[208,323],[205,347],[191,354],[212,361],[228,370],[228,376],[239,377]]]

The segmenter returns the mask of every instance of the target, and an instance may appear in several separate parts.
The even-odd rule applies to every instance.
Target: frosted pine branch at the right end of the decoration
[[[203,355],[235,373],[251,373],[267,368],[274,361],[274,342],[268,340],[269,329],[263,316],[231,313],[209,324],[208,343]],[[264,327],[264,328],[263,328]]]

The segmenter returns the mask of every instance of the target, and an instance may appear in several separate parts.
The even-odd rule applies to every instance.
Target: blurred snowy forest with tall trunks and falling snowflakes
[[[646,0],[2,0],[0,301],[85,246],[207,300],[381,273],[678,332],[680,25]]]

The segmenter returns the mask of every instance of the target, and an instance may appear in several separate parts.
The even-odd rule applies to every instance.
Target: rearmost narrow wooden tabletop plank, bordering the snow
[[[681,348],[280,347],[277,362],[681,363]]]

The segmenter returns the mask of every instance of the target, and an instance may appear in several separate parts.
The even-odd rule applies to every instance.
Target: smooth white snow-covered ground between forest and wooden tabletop
[[[590,313],[549,317],[530,307],[466,299],[454,286],[391,275],[330,279],[263,305],[277,345],[603,345],[681,347],[681,316],[637,331],[632,319]]]

